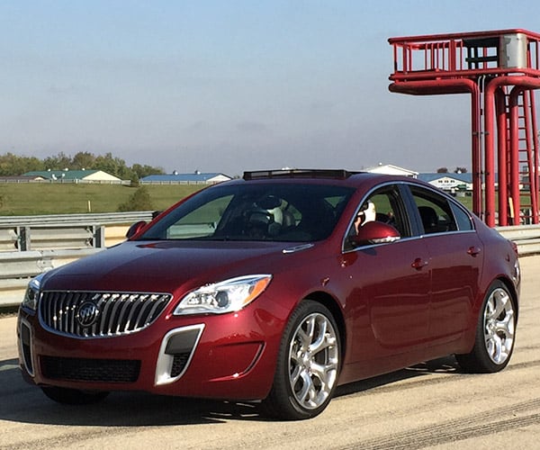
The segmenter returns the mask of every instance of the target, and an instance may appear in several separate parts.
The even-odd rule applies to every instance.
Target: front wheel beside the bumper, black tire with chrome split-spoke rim
[[[336,390],[340,363],[336,320],[320,303],[302,302],[284,330],[266,413],[284,420],[320,414]]]

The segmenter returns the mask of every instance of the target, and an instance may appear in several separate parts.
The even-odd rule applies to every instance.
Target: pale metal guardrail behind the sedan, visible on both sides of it
[[[151,220],[152,212],[0,217],[0,307],[19,304],[32,276],[121,242],[131,223]],[[498,230],[521,256],[540,254],[540,225]]]

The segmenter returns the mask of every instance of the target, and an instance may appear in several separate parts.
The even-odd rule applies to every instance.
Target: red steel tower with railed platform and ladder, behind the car
[[[540,34],[474,31],[389,42],[391,92],[471,94],[474,213],[491,227],[539,223]]]

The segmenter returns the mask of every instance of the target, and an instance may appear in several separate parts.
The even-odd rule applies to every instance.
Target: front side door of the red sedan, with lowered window
[[[361,214],[364,220],[391,223],[401,239],[346,248],[342,266],[355,286],[347,299],[355,318],[353,361],[405,353],[425,342],[429,331],[428,250],[422,239],[410,237],[400,186],[386,185],[369,194],[357,212],[362,211],[371,211]],[[356,227],[353,219],[349,234]]]

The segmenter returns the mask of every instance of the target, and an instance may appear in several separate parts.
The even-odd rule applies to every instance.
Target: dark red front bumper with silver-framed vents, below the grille
[[[37,315],[22,309],[19,361],[24,378],[38,385],[264,399],[273,383],[283,327],[269,317],[268,311],[255,309],[191,318],[164,314],[131,334],[79,338],[45,329]]]

